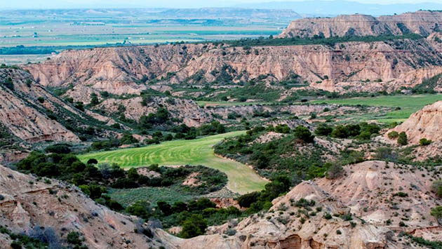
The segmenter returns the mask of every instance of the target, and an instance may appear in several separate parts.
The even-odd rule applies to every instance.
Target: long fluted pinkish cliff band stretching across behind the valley
[[[344,91],[414,86],[442,72],[435,41],[401,39],[347,42],[333,46],[262,46],[253,53],[214,44],[134,46],[65,51],[51,60],[24,65],[43,86],[74,86],[67,95],[88,102],[91,93],[138,94],[161,83],[229,83],[300,76],[314,88]],[[370,80],[370,83],[367,83]],[[145,84],[145,81],[156,84]],[[379,82],[377,82],[379,81]]]

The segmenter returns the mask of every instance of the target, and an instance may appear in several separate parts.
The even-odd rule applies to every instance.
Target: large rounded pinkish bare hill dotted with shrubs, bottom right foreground
[[[269,213],[210,229],[230,228],[235,231],[233,236],[219,232],[188,240],[171,236],[165,240],[189,249],[420,248],[405,236],[399,239],[399,231],[440,239],[442,229],[430,212],[441,205],[441,200],[430,190],[437,174],[414,170],[413,166],[384,161],[346,166],[343,176],[336,180],[321,178],[298,184],[286,196],[276,198]],[[302,199],[307,201],[299,202]]]

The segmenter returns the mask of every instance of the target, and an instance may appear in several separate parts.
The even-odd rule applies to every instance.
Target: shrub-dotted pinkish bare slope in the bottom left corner
[[[160,244],[135,232],[149,229],[136,217],[100,206],[78,188],[58,180],[43,182],[0,166],[0,194],[4,197],[0,225],[15,234],[51,238],[51,248],[66,246],[71,231],[81,233],[89,248],[157,248]],[[11,244],[6,236],[0,236],[0,241],[1,248]]]

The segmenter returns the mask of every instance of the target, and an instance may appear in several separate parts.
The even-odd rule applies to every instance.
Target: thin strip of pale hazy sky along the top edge
[[[0,8],[109,8],[109,7],[166,7],[199,8],[228,7],[270,1],[297,0],[0,0]],[[440,3],[441,0],[353,0],[371,4]]]

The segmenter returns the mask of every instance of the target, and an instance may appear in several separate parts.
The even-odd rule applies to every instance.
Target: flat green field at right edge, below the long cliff
[[[373,107],[401,107],[401,109],[389,112],[384,116],[373,114],[372,119],[382,123],[402,122],[410,117],[410,114],[422,109],[425,105],[442,100],[442,95],[394,95],[382,97],[354,97],[342,100],[315,100],[312,103],[338,104],[338,105],[368,105]]]

